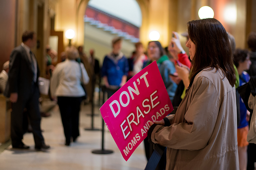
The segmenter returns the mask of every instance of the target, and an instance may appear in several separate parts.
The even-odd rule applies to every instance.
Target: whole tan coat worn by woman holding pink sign
[[[166,170],[238,170],[236,92],[219,69],[204,69],[151,140],[167,147]]]

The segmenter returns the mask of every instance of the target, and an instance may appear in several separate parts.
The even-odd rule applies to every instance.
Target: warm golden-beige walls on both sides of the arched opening
[[[25,30],[41,31],[42,48],[48,43],[50,34],[50,17],[55,13],[55,31],[73,29],[76,32],[72,40],[74,45],[84,44],[84,12],[89,0],[8,0],[0,1],[0,70],[4,61],[9,59],[12,48],[21,43],[21,35]],[[140,28],[140,41],[147,45],[148,34],[152,30],[160,33],[159,41],[167,46],[172,36],[172,31],[179,33],[186,31],[186,23],[198,18],[198,10],[203,5],[209,5],[215,11],[215,18],[220,20],[228,32],[236,38],[237,47],[244,48],[246,35],[250,31],[256,31],[256,3],[254,0],[137,0],[142,13],[142,26]],[[251,9],[248,11],[248,2]],[[17,3],[17,4],[16,4]],[[223,8],[225,4],[235,3],[237,6],[236,24],[228,24],[223,20]],[[38,28],[38,5],[43,5],[42,28]],[[247,6],[246,6],[247,5]],[[17,6],[17,15],[15,7]],[[51,12],[49,12],[51,11]],[[248,15],[248,13],[250,15]],[[246,15],[247,14],[247,15]],[[248,16],[251,18],[248,19]],[[17,17],[17,18],[16,18]],[[16,22],[17,21],[17,22]],[[15,22],[17,25],[15,26]],[[16,30],[16,31],[15,31]],[[181,44],[185,47],[185,39],[181,38]],[[64,35],[64,45],[68,40]],[[87,47],[86,47],[87,48]],[[89,47],[88,47],[89,48]],[[34,49],[34,52],[37,50]],[[38,52],[39,53],[39,52]],[[38,62],[44,72],[44,55],[42,50]],[[39,54],[37,55],[39,56]]]

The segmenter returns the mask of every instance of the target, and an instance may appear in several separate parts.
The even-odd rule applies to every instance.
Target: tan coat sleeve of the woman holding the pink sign
[[[151,134],[152,142],[186,150],[198,150],[207,145],[219,113],[218,94],[206,77],[196,79],[191,88],[191,102],[187,105],[184,123],[173,123],[169,127],[157,125]]]

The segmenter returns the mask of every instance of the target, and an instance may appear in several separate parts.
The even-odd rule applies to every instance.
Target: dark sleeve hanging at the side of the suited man
[[[21,53],[17,50],[12,51],[9,65],[9,91],[18,93],[19,73],[20,73]]]

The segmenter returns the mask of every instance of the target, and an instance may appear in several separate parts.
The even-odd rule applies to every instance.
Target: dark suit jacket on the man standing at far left
[[[38,86],[39,75],[40,71],[37,64],[36,86]],[[10,97],[11,93],[18,93],[18,96],[27,96],[30,93],[33,85],[32,65],[28,60],[26,50],[21,45],[12,50],[8,76],[4,96]]]

